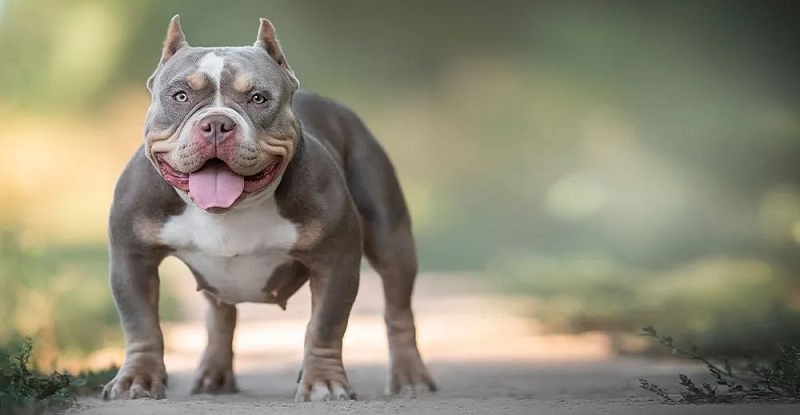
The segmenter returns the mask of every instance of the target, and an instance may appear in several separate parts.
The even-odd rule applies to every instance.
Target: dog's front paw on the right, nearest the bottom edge
[[[328,367],[330,366],[330,367]],[[344,367],[338,365],[306,365],[300,372],[296,402],[347,401],[356,399],[356,392],[347,381]]]

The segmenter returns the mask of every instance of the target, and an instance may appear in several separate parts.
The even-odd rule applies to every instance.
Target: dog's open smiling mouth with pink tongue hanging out
[[[175,170],[169,163],[158,158],[161,175],[171,185],[189,193],[189,197],[203,209],[227,209],[245,193],[263,189],[277,176],[280,160],[267,165],[264,170],[241,176],[218,159],[208,160],[203,167],[186,174]]]

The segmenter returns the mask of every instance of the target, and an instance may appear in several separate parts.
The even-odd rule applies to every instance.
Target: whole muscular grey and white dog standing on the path
[[[387,393],[436,389],[416,344],[417,258],[394,168],[352,111],[298,86],[268,20],[253,46],[206,48],[189,46],[173,17],[147,80],[144,144],[110,212],[110,284],[126,346],[105,398],[165,397],[158,266],[169,255],[208,299],[194,393],[237,391],[236,304],[285,308],[308,282],[295,399],[354,399],[342,338],[362,256],[383,282]]]

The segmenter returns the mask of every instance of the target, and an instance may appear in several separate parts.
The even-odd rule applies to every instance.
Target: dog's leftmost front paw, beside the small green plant
[[[164,399],[167,372],[159,358],[129,358],[103,387],[103,399]]]

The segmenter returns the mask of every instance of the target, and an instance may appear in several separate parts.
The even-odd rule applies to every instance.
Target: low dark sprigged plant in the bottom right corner
[[[760,363],[743,356],[741,361],[723,359],[718,364],[701,355],[697,347],[684,350],[675,346],[672,337],[660,336],[653,327],[642,329],[642,335],[652,337],[670,348],[673,355],[703,363],[713,378],[713,385],[702,382],[698,386],[688,376],[680,374],[678,377],[683,390],[678,396],[645,379],[639,379],[642,388],[658,395],[666,403],[800,400],[800,348],[796,346],[780,347],[778,357],[768,362]]]

